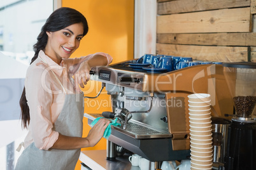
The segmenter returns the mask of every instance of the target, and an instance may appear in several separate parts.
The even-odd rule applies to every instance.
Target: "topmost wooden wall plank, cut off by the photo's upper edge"
[[[248,0],[180,0],[158,3],[157,13],[166,15],[171,13],[187,13],[192,11],[218,10],[250,6]]]

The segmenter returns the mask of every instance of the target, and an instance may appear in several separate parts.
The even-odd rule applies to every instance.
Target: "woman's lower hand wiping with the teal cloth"
[[[104,131],[109,124],[110,121],[108,119],[99,119],[99,121],[92,127],[92,129],[90,129],[87,136],[89,147],[94,147],[99,142],[99,140],[101,140]]]

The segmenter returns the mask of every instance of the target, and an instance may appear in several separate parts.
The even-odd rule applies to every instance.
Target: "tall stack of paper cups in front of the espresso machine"
[[[191,169],[211,169],[211,100],[209,94],[188,95]]]

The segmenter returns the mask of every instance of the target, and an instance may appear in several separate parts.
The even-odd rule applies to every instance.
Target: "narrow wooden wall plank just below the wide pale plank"
[[[210,46],[256,46],[256,32],[212,34],[157,34],[157,42]]]

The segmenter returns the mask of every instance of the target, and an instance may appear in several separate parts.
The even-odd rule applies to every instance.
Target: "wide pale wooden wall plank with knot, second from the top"
[[[157,16],[157,33],[250,32],[250,8]]]

